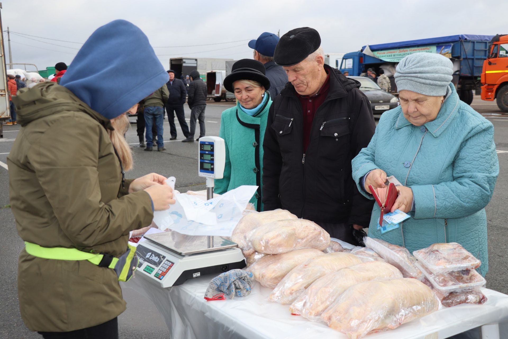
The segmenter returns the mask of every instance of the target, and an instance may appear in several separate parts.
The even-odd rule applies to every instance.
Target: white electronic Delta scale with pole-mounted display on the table
[[[214,179],[224,175],[224,139],[199,139],[198,175],[206,178],[207,200],[213,198]],[[161,287],[183,284],[205,274],[245,267],[238,244],[217,236],[185,235],[176,231],[145,235],[138,244],[136,273]]]

